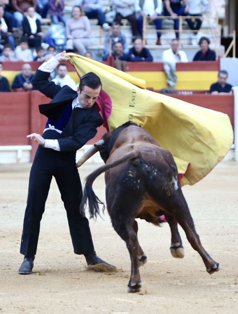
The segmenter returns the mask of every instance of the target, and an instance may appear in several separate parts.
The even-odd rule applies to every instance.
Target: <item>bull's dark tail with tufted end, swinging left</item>
[[[113,161],[112,163],[108,165],[103,165],[99,167],[97,170],[93,171],[89,176],[86,177],[85,179],[85,187],[84,187],[84,192],[83,192],[83,199],[80,204],[80,213],[84,213],[84,209],[86,207],[87,199],[88,199],[88,206],[89,206],[89,213],[90,213],[90,218],[97,218],[97,214],[99,214],[99,206],[98,204],[102,204],[103,208],[102,211],[104,212],[105,205],[100,199],[97,197],[97,195],[93,192],[92,189],[92,184],[94,180],[103,172],[106,170],[116,167],[122,163],[124,163],[127,160],[136,158],[138,156],[139,152],[133,149],[129,153],[125,154],[123,157],[119,158],[116,161]],[[100,214],[99,214],[100,216]]]

